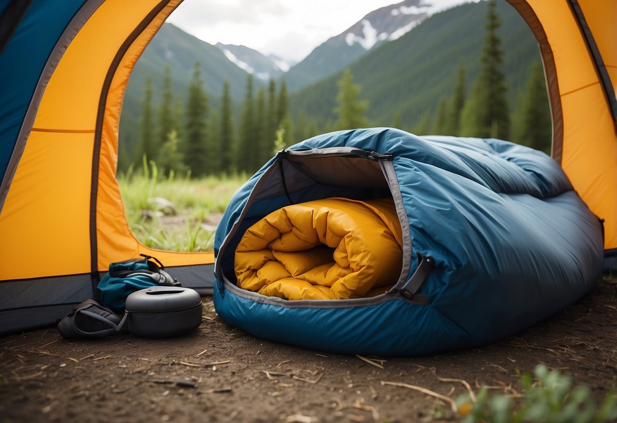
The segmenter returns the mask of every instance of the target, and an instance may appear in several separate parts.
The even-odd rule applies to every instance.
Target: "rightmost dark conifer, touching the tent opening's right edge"
[[[539,62],[531,66],[522,109],[521,144],[549,153],[552,122],[546,81]]]

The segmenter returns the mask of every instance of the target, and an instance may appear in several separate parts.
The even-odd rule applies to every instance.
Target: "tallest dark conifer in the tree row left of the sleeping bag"
[[[203,88],[201,68],[196,63],[189,85],[186,103],[186,141],[184,142],[184,163],[192,176],[204,176],[212,166],[212,154],[207,150],[208,97]]]

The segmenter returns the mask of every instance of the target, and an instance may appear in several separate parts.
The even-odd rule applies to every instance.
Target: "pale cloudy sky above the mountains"
[[[471,0],[423,0],[442,10]],[[210,44],[243,44],[302,60],[369,12],[396,0],[184,0],[167,19]]]

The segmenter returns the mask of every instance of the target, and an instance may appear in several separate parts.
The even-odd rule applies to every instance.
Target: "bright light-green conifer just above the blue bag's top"
[[[339,87],[336,96],[337,107],[334,112],[338,115],[336,126],[338,129],[355,129],[367,125],[364,112],[368,108],[368,101],[358,100],[360,85],[354,84],[354,76],[349,68],[343,72],[342,78],[337,81]]]

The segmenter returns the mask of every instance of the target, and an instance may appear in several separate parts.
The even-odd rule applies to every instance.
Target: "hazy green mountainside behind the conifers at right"
[[[523,19],[505,1],[497,2],[502,22],[503,66],[510,110],[524,89],[531,65],[540,61],[537,44]],[[426,113],[434,114],[443,97],[450,97],[460,65],[467,81],[480,68],[485,36],[486,2],[463,4],[428,18],[401,38],[384,43],[350,65],[354,82],[362,86],[360,99],[368,100],[366,117],[373,126],[400,125],[413,129]],[[317,119],[318,126],[336,120],[336,82],[342,72],[294,92],[289,99],[292,117]],[[468,88],[471,83],[468,84]]]

